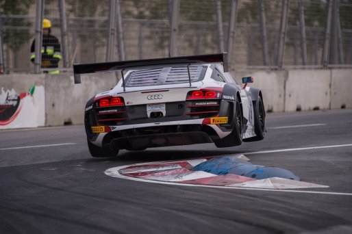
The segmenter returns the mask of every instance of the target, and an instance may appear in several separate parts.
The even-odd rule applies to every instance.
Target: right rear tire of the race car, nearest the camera
[[[234,130],[231,131],[229,135],[227,135],[223,139],[215,140],[214,143],[218,148],[231,147],[231,146],[239,146],[242,144],[242,135],[243,135],[243,118],[242,111],[240,108],[240,102],[236,99],[236,108],[234,111]]]

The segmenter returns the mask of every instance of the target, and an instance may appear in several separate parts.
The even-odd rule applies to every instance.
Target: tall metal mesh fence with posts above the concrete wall
[[[16,5],[14,4],[16,2]],[[352,66],[352,0],[0,1],[0,67],[40,73],[29,60],[42,18],[73,63],[228,51],[231,68]],[[40,55],[40,50],[36,53]]]

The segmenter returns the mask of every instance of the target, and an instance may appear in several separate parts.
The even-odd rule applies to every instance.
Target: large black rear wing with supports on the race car
[[[176,65],[186,64],[187,68],[191,64],[212,64],[222,62],[224,72],[228,71],[227,53],[215,53],[210,55],[192,55],[182,57],[165,57],[149,60],[129,60],[121,62],[100,62],[95,64],[73,64],[73,73],[75,83],[81,83],[81,74],[86,73],[99,73],[103,71],[121,70],[123,78],[123,88],[125,90],[125,78],[123,76],[124,70],[131,70],[136,68],[150,68],[160,65]],[[189,68],[188,68],[189,69]],[[188,70],[189,75],[189,70]]]

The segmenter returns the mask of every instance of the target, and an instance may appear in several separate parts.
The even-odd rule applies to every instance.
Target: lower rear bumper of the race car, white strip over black
[[[112,141],[115,142],[114,144],[117,144],[116,141],[120,140],[121,142],[125,142],[121,144],[118,143],[116,145],[116,148],[124,148],[122,144],[127,144],[128,142],[136,140],[136,142],[149,142],[149,146],[147,146],[148,148],[158,146],[176,146],[183,144],[212,143],[213,140],[225,138],[225,136],[231,133],[231,129],[225,129],[220,125],[203,125],[202,122],[203,119],[197,119],[172,122],[158,122],[153,124],[110,126],[110,132],[97,133],[92,136],[88,135],[88,140],[90,140],[92,144],[95,144],[99,147],[108,147],[112,145]],[[182,141],[174,139],[178,138],[179,135],[184,135],[184,138],[188,140]],[[154,140],[146,140],[147,138],[151,138]],[[155,140],[157,138],[170,139],[166,141]]]

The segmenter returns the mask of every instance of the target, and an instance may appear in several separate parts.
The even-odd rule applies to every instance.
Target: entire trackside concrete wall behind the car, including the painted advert
[[[242,70],[234,73],[240,83],[260,88],[266,110],[295,112],[352,107],[352,69]],[[60,75],[0,75],[0,129],[80,125],[84,106],[92,96],[110,90],[116,73],[82,75],[73,83],[72,73]]]

